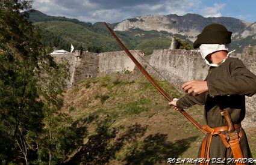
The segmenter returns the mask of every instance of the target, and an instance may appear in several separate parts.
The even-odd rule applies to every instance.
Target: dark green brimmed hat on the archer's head
[[[198,35],[198,38],[193,44],[196,49],[201,44],[228,44],[231,43],[232,32],[229,32],[225,26],[213,23],[205,26],[202,33]]]

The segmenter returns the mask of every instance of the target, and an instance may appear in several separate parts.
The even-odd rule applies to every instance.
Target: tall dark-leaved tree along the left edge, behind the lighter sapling
[[[8,143],[1,141],[0,152],[7,164],[17,154],[14,153],[17,139],[42,127],[42,102],[36,92],[34,70],[44,52],[30,23],[19,15],[20,4],[4,2],[0,11],[0,107],[1,131]]]

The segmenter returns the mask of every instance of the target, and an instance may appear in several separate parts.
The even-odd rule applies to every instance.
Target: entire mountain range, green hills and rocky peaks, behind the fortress
[[[42,29],[46,45],[54,49],[75,49],[90,52],[120,50],[102,22],[88,23],[66,17],[48,16],[40,11],[29,11],[28,20]],[[256,22],[245,22],[233,17],[208,17],[198,14],[146,15],[109,24],[128,49],[142,49],[146,54],[154,49],[168,49],[170,38],[176,37],[192,46],[196,36],[210,23],[220,23],[232,31],[230,49],[242,52],[246,46],[256,45]]]

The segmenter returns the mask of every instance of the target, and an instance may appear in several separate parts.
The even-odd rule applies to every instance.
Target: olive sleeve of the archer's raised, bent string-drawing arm
[[[248,95],[256,93],[256,76],[251,73],[240,59],[231,61],[229,77],[207,79],[210,97],[216,95]]]

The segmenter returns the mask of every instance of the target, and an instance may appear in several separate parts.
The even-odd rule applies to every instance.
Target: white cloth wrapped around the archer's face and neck
[[[226,50],[226,52],[228,52],[228,46],[229,44],[201,44],[201,46],[199,47],[200,49],[200,53],[202,55],[202,58],[204,58],[204,61],[206,62],[206,64],[212,66],[212,67],[219,67],[219,64],[225,62],[226,58],[228,58],[229,54],[234,52],[235,50],[233,50],[232,52],[229,52],[228,55],[226,56],[225,59],[223,59],[222,62],[220,62],[219,64],[213,64],[209,61],[207,61],[206,56],[209,55],[210,53],[213,52],[217,52],[220,50]]]

